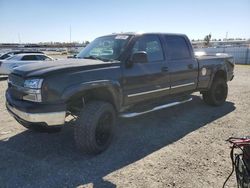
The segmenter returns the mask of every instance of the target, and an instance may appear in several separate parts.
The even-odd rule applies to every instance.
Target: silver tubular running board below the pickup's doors
[[[172,103],[168,103],[168,104],[156,106],[156,107],[154,107],[153,109],[151,109],[151,110],[146,110],[146,111],[144,111],[144,112],[128,112],[128,113],[122,113],[122,114],[120,114],[120,117],[122,117],[122,118],[132,118],[132,117],[140,116],[140,115],[143,115],[143,114],[147,114],[147,113],[149,113],[149,112],[154,112],[154,111],[157,111],[157,110],[162,110],[162,109],[164,109],[164,108],[169,108],[169,107],[172,107],[172,106],[176,106],[176,105],[179,105],[179,104],[183,104],[183,103],[189,102],[189,101],[191,101],[191,100],[192,100],[192,98],[189,98],[189,99],[184,100],[184,101],[172,102]]]

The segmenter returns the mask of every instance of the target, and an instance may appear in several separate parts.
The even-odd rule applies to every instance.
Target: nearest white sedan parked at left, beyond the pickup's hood
[[[14,55],[5,60],[0,60],[0,75],[8,75],[16,67],[41,61],[53,61],[53,58],[41,53]]]

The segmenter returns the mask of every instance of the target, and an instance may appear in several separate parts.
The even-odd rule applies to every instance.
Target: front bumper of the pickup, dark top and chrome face
[[[6,108],[17,119],[30,123],[45,123],[47,126],[62,125],[65,122],[64,105],[45,105],[12,99],[6,93]],[[57,109],[57,110],[55,110]]]

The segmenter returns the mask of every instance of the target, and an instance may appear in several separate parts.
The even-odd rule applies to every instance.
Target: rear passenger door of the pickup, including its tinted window
[[[171,94],[193,91],[198,82],[198,62],[185,36],[165,35]]]

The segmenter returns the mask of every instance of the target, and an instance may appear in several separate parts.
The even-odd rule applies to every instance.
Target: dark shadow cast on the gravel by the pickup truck
[[[6,187],[116,187],[108,174],[168,146],[235,110],[234,103],[210,107],[193,101],[133,119],[120,119],[111,147],[102,154],[79,154],[72,125],[60,133],[24,131],[0,141],[0,184]]]

